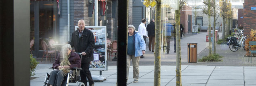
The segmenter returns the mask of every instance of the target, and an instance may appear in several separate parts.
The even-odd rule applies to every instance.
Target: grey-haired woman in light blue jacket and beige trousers
[[[145,50],[146,44],[143,37],[135,31],[135,27],[133,25],[129,25],[126,55],[126,80],[129,78],[130,61],[132,60],[133,82],[138,82],[140,56],[145,54]]]

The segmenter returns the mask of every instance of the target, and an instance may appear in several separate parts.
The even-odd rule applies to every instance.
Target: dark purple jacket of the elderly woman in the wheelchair
[[[52,64],[52,67],[55,69],[58,69],[57,67],[60,66],[62,60],[63,60],[63,57],[60,56],[60,54],[58,54],[57,59]],[[69,65],[70,68],[80,68],[81,67],[81,59],[78,54],[71,52],[68,60],[70,62],[70,65]]]

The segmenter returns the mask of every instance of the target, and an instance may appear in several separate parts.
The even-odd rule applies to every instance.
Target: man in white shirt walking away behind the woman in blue
[[[138,33],[140,33],[143,36],[145,43],[147,43],[148,36],[147,36],[147,28],[146,28],[145,24],[146,24],[146,19],[143,18],[141,20],[141,24],[138,26]],[[153,52],[153,50],[152,50],[152,52]],[[144,56],[142,55],[141,58],[144,58]]]

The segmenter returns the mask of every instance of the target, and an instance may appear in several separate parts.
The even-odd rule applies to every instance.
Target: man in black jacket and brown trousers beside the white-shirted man
[[[154,49],[155,49],[155,20],[154,19],[151,19],[150,23],[147,25],[147,32],[149,36],[149,51],[151,51],[151,48],[152,48],[152,52],[154,52]]]

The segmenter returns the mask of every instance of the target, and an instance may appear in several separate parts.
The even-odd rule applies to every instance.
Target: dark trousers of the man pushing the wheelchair
[[[82,59],[88,59],[88,58],[82,58]],[[85,62],[85,63],[82,62],[81,68],[83,70],[80,71],[80,76],[81,76],[81,82],[83,82],[85,86],[87,86],[86,78],[88,78],[89,80],[89,86],[94,83],[92,80],[91,72],[89,70],[89,66],[90,66],[90,62]]]

